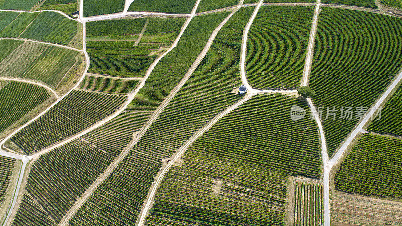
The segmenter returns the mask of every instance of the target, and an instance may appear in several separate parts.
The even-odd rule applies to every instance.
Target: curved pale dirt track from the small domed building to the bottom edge
[[[188,139],[179,149],[177,149],[177,151],[173,154],[174,157],[172,156],[173,158],[170,159],[170,162],[165,167],[162,167],[161,171],[159,171],[158,175],[156,176],[156,178],[150,188],[147,199],[144,202],[144,205],[140,212],[140,218],[139,218],[139,220],[137,220],[138,224],[136,223],[136,225],[138,225],[138,226],[144,225],[145,218],[148,215],[151,204],[154,201],[155,194],[156,194],[156,192],[159,188],[159,185],[162,182],[165,174],[170,170],[172,165],[182,157],[182,155],[185,153],[185,151],[188,149],[188,147],[190,147],[200,136],[204,135],[204,133],[206,131],[208,131],[212,126],[214,126],[215,123],[218,122],[221,118],[223,118],[228,113],[230,113],[231,111],[233,111],[234,109],[239,107],[244,102],[248,101],[254,95],[256,95],[256,94],[248,94],[242,100],[238,101],[231,107],[225,109],[223,112],[216,115],[213,119],[211,119],[209,122],[207,122],[201,129],[199,129],[194,135],[192,135],[191,138]]]

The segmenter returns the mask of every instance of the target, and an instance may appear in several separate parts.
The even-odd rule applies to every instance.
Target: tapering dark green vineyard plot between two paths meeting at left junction
[[[72,91],[10,140],[21,148],[22,152],[35,153],[112,114],[126,99],[124,96]]]

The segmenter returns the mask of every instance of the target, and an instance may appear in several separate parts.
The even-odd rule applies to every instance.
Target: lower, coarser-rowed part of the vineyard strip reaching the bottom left
[[[41,156],[33,165],[34,171],[28,178],[29,190],[24,194],[13,225],[57,224],[150,115],[151,112],[124,110],[83,137]],[[38,203],[32,202],[33,199]]]

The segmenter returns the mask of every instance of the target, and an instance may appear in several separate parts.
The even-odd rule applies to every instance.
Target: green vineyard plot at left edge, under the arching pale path
[[[50,97],[49,91],[36,85],[9,82],[0,89],[0,133]]]

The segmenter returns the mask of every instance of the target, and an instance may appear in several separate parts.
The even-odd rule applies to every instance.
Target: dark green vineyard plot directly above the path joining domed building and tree
[[[302,82],[313,7],[262,7],[248,34],[245,69],[252,87],[295,89]]]

